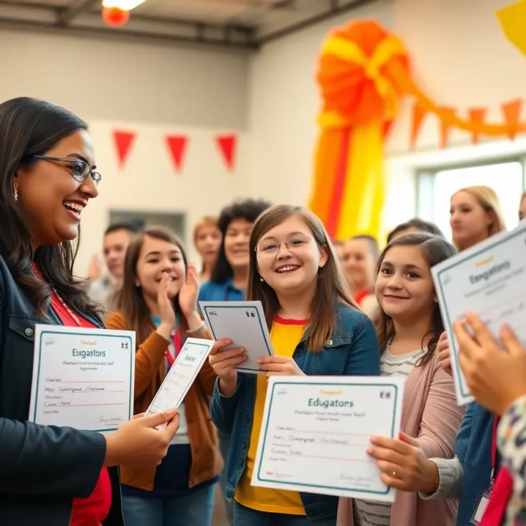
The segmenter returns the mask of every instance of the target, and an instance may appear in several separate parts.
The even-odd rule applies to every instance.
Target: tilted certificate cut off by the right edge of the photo
[[[506,322],[526,346],[526,222],[463,250],[431,269],[448,333],[460,405],[473,400],[458,362],[452,323],[476,313],[495,338]]]

